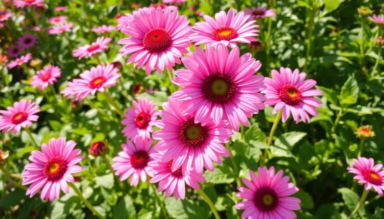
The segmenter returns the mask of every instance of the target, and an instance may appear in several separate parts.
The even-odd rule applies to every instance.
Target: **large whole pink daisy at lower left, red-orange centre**
[[[80,149],[74,149],[74,141],[65,141],[59,137],[51,138],[48,145],[42,144],[40,151],[32,151],[29,156],[30,164],[25,165],[25,171],[21,174],[22,185],[31,184],[26,191],[29,197],[34,196],[41,188],[40,199],[58,199],[60,190],[69,193],[68,184],[73,183],[72,174],[80,173],[83,169],[77,164],[84,159],[78,156]]]

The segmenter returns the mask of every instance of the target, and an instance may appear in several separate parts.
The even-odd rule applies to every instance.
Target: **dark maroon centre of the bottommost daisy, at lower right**
[[[278,204],[277,194],[271,188],[261,188],[254,195],[254,204],[261,212],[272,211]]]

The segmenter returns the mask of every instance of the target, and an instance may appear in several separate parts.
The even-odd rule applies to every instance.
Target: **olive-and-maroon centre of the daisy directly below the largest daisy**
[[[189,147],[200,147],[208,136],[206,127],[194,123],[194,118],[184,121],[180,126],[180,139]]]

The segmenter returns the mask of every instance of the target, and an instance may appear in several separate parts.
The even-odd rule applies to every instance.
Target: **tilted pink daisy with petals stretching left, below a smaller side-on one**
[[[61,94],[67,98],[75,96],[75,100],[83,99],[88,94],[94,95],[96,91],[104,92],[105,87],[116,85],[121,75],[113,65],[97,65],[80,74],[81,79],[73,79],[68,82],[69,87],[64,88]]]

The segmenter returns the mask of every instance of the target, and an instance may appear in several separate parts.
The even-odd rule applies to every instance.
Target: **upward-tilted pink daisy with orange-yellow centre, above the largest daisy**
[[[203,43],[216,46],[222,44],[230,48],[236,47],[236,43],[250,43],[256,41],[258,25],[254,20],[248,21],[249,15],[244,15],[243,11],[234,14],[234,9],[230,8],[228,13],[220,11],[214,15],[214,20],[208,15],[203,15],[205,22],[197,22],[192,27],[189,39],[195,42],[194,45]]]

